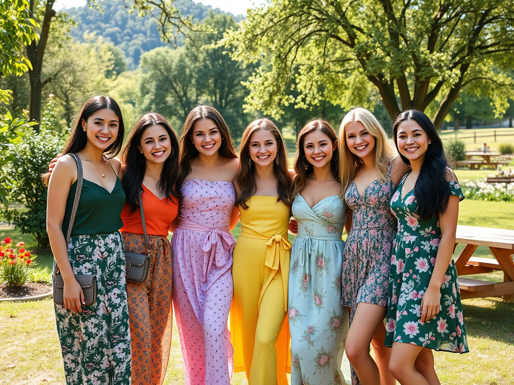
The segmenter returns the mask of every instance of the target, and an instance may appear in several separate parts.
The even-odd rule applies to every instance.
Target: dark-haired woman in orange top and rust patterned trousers
[[[158,113],[147,113],[130,133],[122,152],[126,203],[120,229],[125,250],[144,253],[139,195],[148,234],[150,269],[141,283],[127,282],[132,337],[132,384],[162,384],[168,367],[172,328],[172,255],[166,238],[177,216],[178,141]]]

